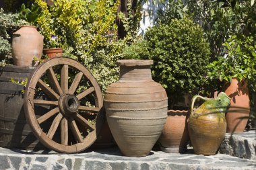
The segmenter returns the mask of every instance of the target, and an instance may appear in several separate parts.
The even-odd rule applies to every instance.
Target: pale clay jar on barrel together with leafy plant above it
[[[34,67],[34,57],[40,59],[44,37],[36,30],[37,19],[42,15],[38,5],[32,4],[31,9],[22,4],[20,9],[22,19],[28,22],[28,26],[22,26],[20,30],[13,33],[12,54],[14,65]]]

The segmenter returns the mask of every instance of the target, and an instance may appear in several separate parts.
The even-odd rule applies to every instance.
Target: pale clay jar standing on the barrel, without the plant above
[[[44,37],[36,30],[34,26],[22,26],[20,30],[13,33],[12,55],[14,65],[35,67],[38,59],[42,56]]]

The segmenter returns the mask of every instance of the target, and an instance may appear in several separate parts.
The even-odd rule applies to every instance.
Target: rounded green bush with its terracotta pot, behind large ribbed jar
[[[166,89],[169,110],[158,141],[163,151],[186,151],[190,100],[185,101],[185,97],[199,93],[203,85],[210,59],[209,44],[201,28],[187,17],[156,25],[144,38],[143,42],[125,48],[124,56],[154,60],[152,77]]]

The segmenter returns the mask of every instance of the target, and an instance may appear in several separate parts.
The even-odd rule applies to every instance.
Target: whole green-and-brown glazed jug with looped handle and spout
[[[197,98],[205,102],[194,110]],[[225,112],[230,97],[221,92],[215,99],[195,95],[191,104],[188,128],[191,144],[198,155],[215,155],[226,134]]]

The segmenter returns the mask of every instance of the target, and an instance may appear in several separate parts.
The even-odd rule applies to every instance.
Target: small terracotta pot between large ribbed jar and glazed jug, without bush
[[[189,131],[187,129],[187,110],[168,110],[168,117],[158,139],[160,148],[167,153],[184,153],[189,143]]]

